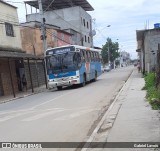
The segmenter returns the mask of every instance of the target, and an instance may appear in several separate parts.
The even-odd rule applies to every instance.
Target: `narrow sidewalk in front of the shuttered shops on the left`
[[[12,100],[15,100],[15,99],[27,97],[27,96],[30,96],[30,95],[33,95],[33,94],[41,93],[41,92],[44,92],[44,91],[48,91],[48,89],[46,89],[46,85],[42,85],[40,87],[34,88],[33,93],[32,93],[31,89],[29,89],[27,91],[24,91],[24,92],[17,92],[15,98],[14,98],[13,95],[0,96],[0,104],[5,103],[5,102],[9,102],[9,101],[12,101]]]

